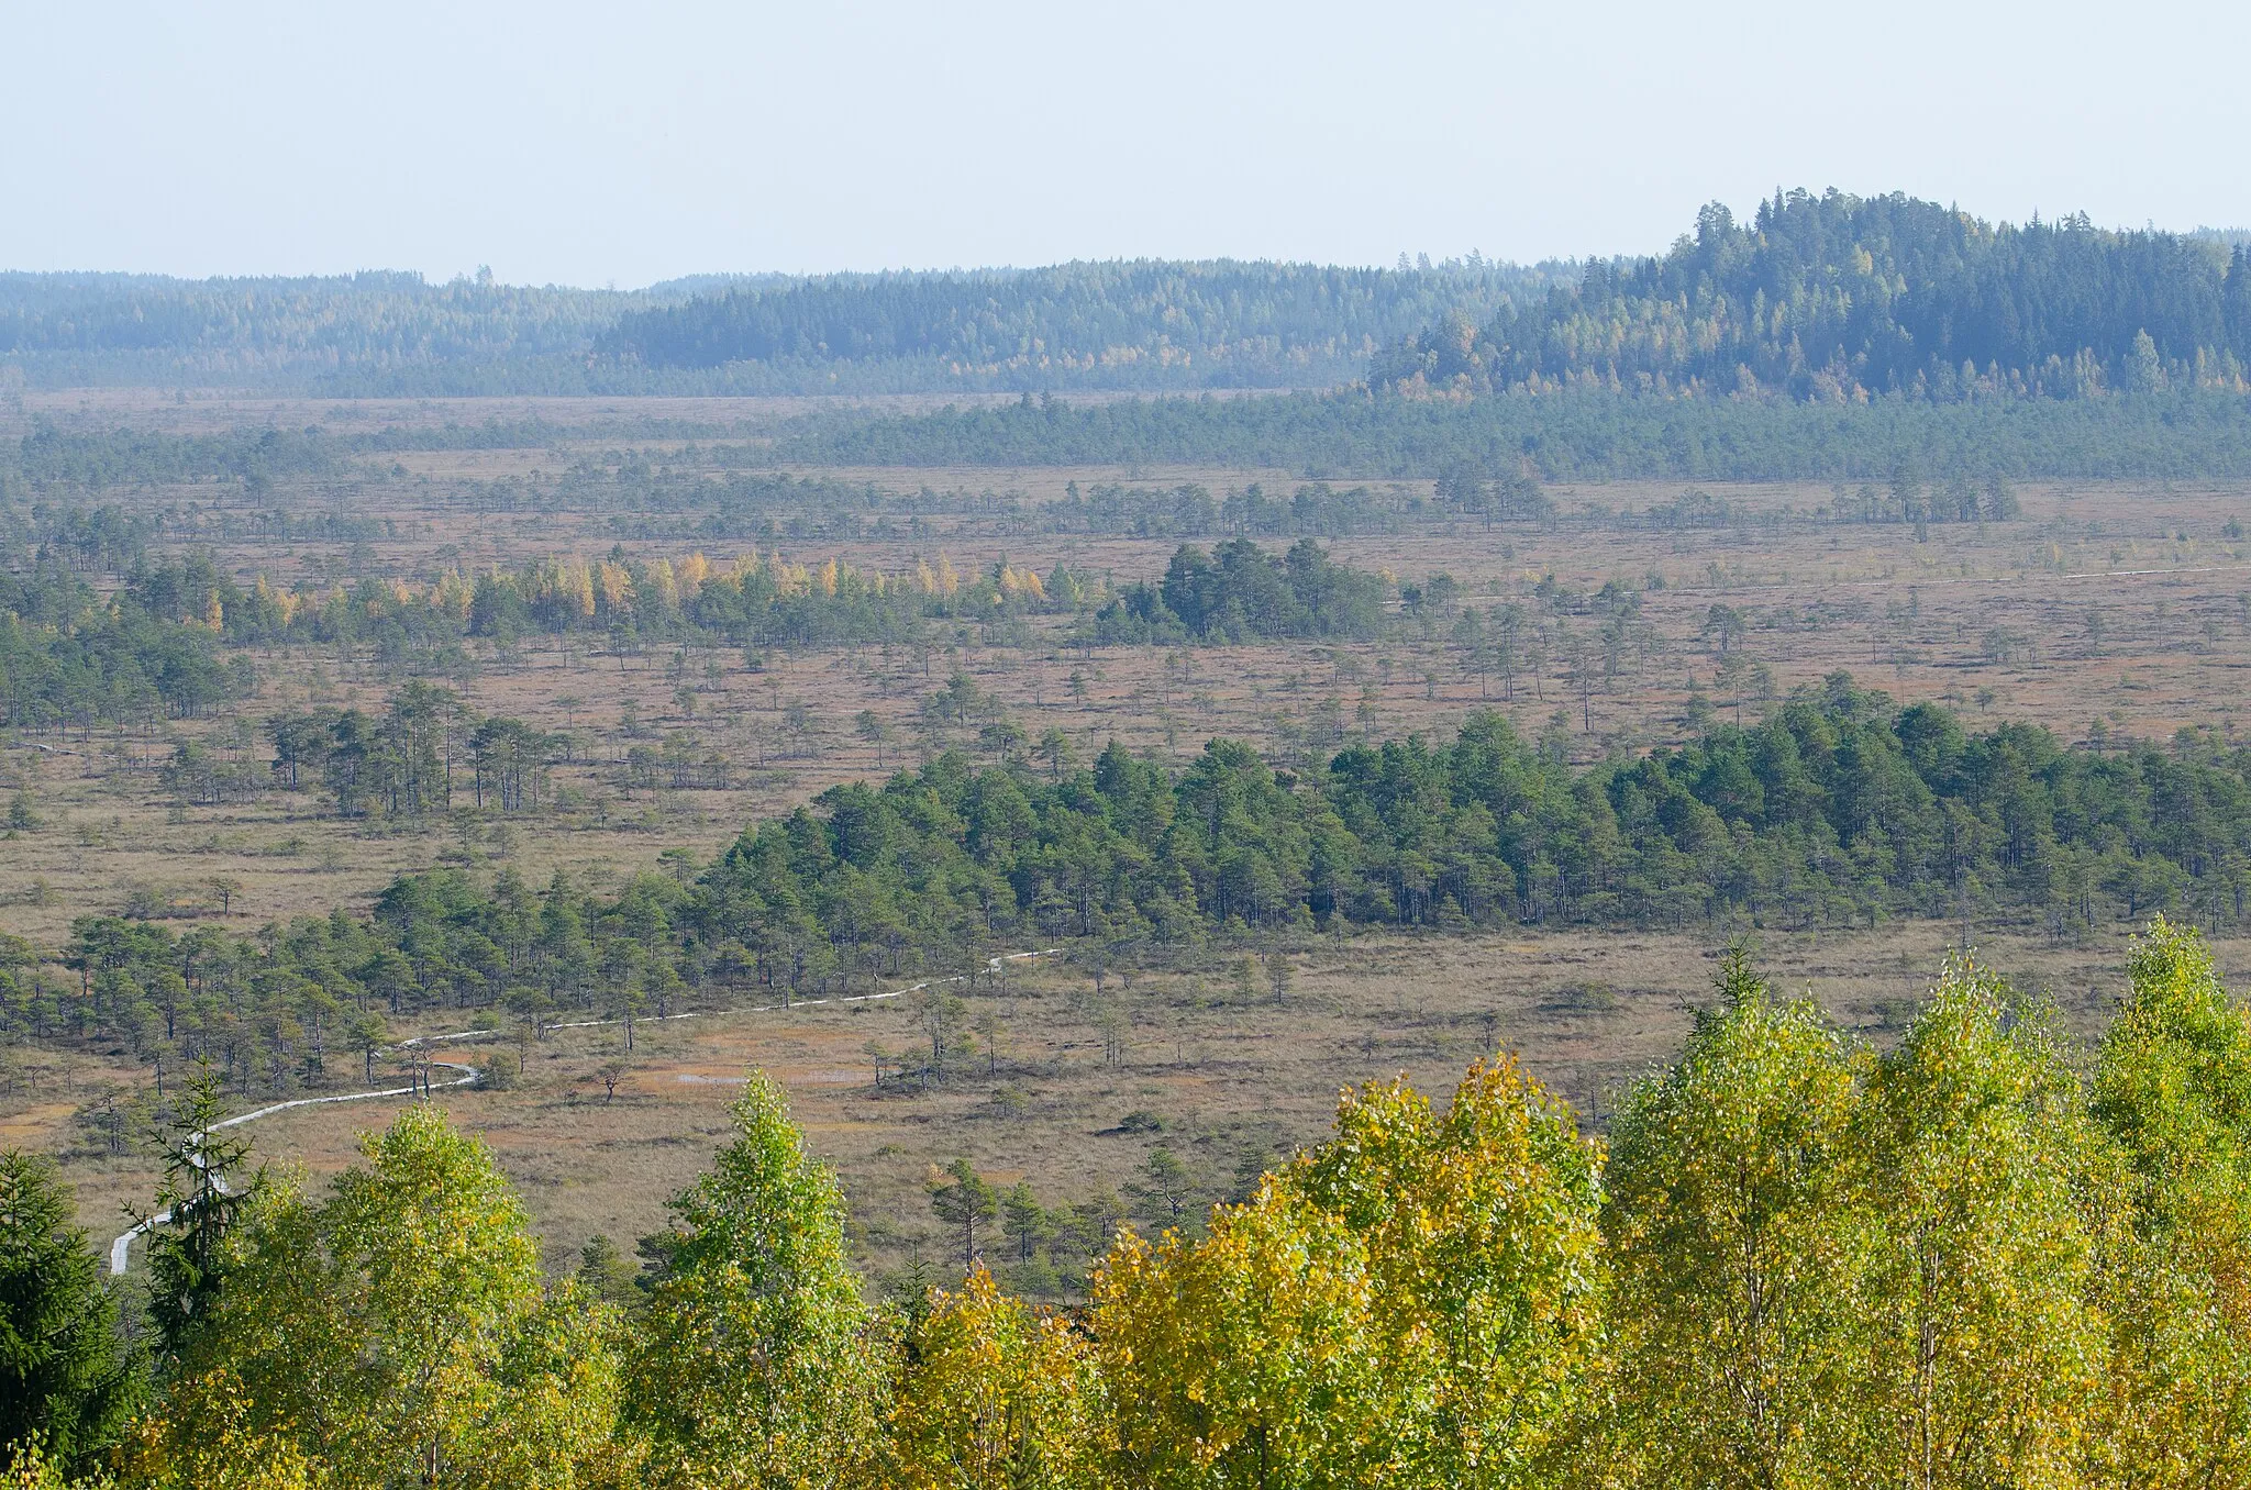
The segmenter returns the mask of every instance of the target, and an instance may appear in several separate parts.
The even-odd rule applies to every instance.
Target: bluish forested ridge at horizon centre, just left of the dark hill
[[[849,369],[930,389],[1326,387],[1434,317],[1486,315],[1551,272],[1139,259],[826,275],[628,311],[599,349],[651,367]]]

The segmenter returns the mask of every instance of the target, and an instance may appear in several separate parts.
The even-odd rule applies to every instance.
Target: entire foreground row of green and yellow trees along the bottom
[[[547,1283],[493,1155],[416,1105],[333,1197],[171,1128],[146,1364],[52,1170],[0,1159],[23,1483],[2235,1485],[2251,1463],[2251,1015],[2159,921],[2089,1076],[1952,963],[1877,1053],[1740,959],[1609,1141],[1515,1062],[1348,1092],[1240,1204],[1123,1229],[1085,1308],[867,1303],[844,1197],[752,1071],[642,1240]],[[248,1186],[248,1188],[245,1188]],[[142,1371],[149,1386],[142,1386]],[[45,1458],[45,1467],[41,1465]]]

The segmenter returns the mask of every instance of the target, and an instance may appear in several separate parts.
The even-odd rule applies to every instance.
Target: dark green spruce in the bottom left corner
[[[0,1152],[0,1445],[97,1463],[140,1395],[86,1233],[54,1161]]]

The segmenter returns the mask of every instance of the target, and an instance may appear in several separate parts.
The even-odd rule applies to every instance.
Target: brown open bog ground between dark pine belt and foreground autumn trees
[[[1756,952],[1778,986],[1810,990],[1862,1038],[1886,1042],[1911,1017],[1952,932],[1911,923],[1767,936]],[[2120,990],[2125,936],[2073,948],[1985,934],[1979,954],[2046,990],[2091,1049]],[[1211,954],[1135,977],[1119,995],[1128,1024],[1114,1060],[1089,979],[1044,966],[1015,975],[1006,993],[972,995],[972,1015],[999,1020],[999,1053],[979,1051],[927,1092],[896,1076],[882,1089],[871,1083],[869,1042],[898,1051],[918,1040],[914,1011],[898,999],[644,1022],[630,1053],[615,1026],[556,1031],[529,1047],[513,1089],[441,1092],[439,1101],[495,1148],[538,1220],[549,1265],[565,1267],[597,1231],[630,1247],[664,1222],[664,1200],[723,1141],[741,1074],[763,1067],[788,1087],[815,1150],[840,1168],[862,1263],[873,1272],[912,1258],[943,1267],[952,1242],[923,1184],[932,1166],[957,1157],[995,1182],[1029,1177],[1058,1204],[1130,1195],[1150,1150],[1166,1146],[1184,1159],[1202,1206],[1227,1195],[1245,1166],[1317,1141],[1339,1087],[1407,1074],[1443,1094],[1492,1047],[1519,1053],[1589,1128],[1603,1128],[1625,1085],[1668,1060],[1693,1011],[1711,1002],[1718,957],[1718,945],[1681,936],[1360,936],[1297,948],[1290,993],[1276,1002],[1263,968],[1245,997],[1234,959]],[[2251,975],[2251,941],[2224,941],[2219,957],[2233,984]],[[601,1083],[610,1062],[624,1062],[615,1098]],[[144,1152],[106,1152],[72,1112],[128,1076],[74,1060],[36,1089],[18,1078],[0,1105],[0,1141],[63,1150],[81,1218],[104,1236],[119,1229],[124,1206],[146,1204],[155,1175]],[[353,1089],[356,1076],[340,1069],[335,1087]],[[306,1107],[250,1132],[261,1159],[297,1166],[317,1184],[394,1107]],[[1150,1119],[1162,1128],[1150,1130]]]

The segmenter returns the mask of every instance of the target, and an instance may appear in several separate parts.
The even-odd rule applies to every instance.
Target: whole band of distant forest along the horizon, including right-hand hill
[[[1830,189],[1776,191],[1749,221],[1711,203],[1657,257],[1537,266],[1141,259],[707,275],[630,293],[488,272],[0,275],[0,394],[23,383],[324,396],[2244,396],[2251,245],[2235,232],[2111,232],[2084,214],[1985,223]]]

